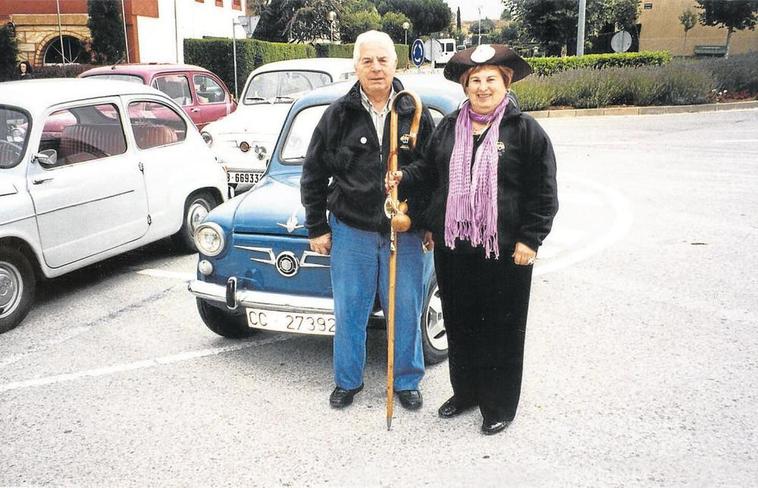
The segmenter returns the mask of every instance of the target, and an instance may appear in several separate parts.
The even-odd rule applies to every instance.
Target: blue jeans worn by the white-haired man
[[[331,274],[334,290],[334,381],[348,390],[363,383],[366,325],[377,288],[387,310],[389,236],[340,222],[330,215]],[[424,376],[421,307],[424,302],[423,251],[418,233],[398,234],[395,293],[395,390],[416,390]]]

